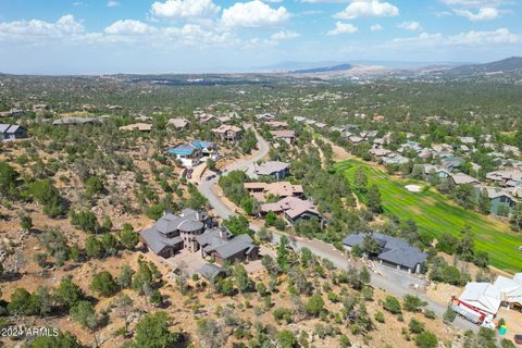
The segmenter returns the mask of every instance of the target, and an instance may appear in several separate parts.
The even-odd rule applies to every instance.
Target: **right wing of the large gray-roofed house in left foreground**
[[[196,237],[201,257],[210,257],[215,263],[253,261],[259,257],[259,246],[248,234],[233,237],[228,228],[221,226],[209,228]]]

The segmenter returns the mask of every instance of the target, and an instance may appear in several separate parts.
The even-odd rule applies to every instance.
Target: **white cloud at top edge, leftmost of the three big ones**
[[[151,13],[167,20],[207,18],[216,15],[220,10],[212,0],[166,0],[152,3]]]

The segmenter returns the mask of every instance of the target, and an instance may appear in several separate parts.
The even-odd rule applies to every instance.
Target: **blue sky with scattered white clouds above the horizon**
[[[521,0],[0,1],[0,72],[248,72],[522,55]]]

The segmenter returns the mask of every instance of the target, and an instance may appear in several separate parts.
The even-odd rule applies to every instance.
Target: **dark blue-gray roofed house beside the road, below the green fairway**
[[[375,257],[380,263],[405,270],[409,273],[421,273],[427,254],[401,238],[384,235],[381,233],[359,233],[348,235],[343,240],[346,249],[351,250],[353,246],[361,246],[364,238],[370,236],[378,245],[380,251]]]

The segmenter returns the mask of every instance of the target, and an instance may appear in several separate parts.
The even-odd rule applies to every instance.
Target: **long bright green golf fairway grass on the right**
[[[395,179],[380,169],[358,160],[338,162],[335,169],[352,182],[358,166],[368,175],[369,184],[376,184],[381,190],[385,213],[400,220],[411,219],[419,226],[419,232],[437,237],[443,233],[460,236],[462,227],[470,225],[475,235],[477,250],[489,253],[492,265],[511,273],[522,271],[522,235],[511,231],[507,223],[468,211],[451,202],[434,188],[421,192],[410,192],[408,184],[426,187],[424,182],[413,179]]]

